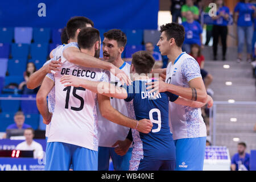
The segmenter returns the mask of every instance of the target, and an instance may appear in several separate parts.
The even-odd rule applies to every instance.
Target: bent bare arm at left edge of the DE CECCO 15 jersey
[[[36,94],[36,105],[38,106],[38,110],[43,117],[43,122],[46,125],[51,122],[52,118],[52,113],[49,112],[46,98],[54,85],[54,82],[50,78],[45,77],[38,93]]]

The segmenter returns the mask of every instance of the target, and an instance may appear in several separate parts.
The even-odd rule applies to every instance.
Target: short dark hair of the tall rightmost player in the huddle
[[[160,32],[166,33],[167,40],[174,38],[176,45],[178,47],[182,47],[182,44],[185,39],[185,30],[182,25],[178,23],[167,23],[160,27]]]

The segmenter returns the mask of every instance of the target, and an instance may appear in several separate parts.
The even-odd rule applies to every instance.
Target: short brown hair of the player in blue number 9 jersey
[[[133,54],[131,63],[134,65],[137,73],[150,73],[154,67],[155,59],[148,51],[138,51]]]

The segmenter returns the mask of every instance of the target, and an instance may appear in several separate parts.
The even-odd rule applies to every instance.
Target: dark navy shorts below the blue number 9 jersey
[[[138,171],[174,171],[175,160],[141,159]]]

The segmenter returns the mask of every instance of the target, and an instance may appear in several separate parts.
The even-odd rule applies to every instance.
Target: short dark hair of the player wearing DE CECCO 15
[[[100,31],[93,27],[82,28],[77,36],[77,44],[82,49],[92,48],[97,41],[100,41]]]

